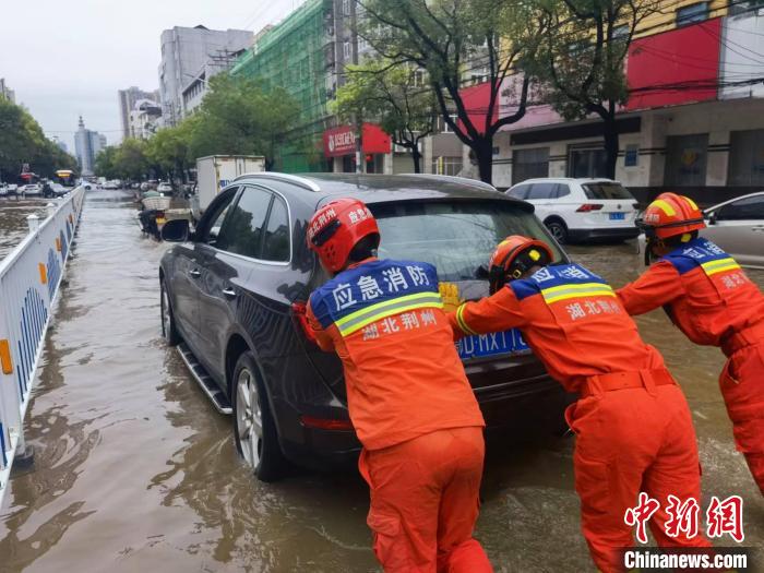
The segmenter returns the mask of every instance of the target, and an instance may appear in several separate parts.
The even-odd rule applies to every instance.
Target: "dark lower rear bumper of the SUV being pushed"
[[[476,389],[488,432],[521,438],[545,437],[564,429],[564,410],[575,402],[547,374]],[[277,406],[282,450],[293,463],[318,470],[355,466],[361,444],[354,431],[307,427],[300,414]],[[312,409],[312,408],[311,408]]]

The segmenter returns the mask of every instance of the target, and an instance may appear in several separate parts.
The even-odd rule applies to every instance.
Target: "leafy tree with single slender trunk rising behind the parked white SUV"
[[[546,84],[547,99],[566,120],[602,121],[606,176],[616,177],[616,116],[629,99],[624,61],[634,33],[660,10],[659,0],[541,0],[539,49],[529,68]]]

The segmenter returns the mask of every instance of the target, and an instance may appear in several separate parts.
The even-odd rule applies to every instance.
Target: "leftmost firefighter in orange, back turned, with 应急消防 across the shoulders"
[[[428,263],[378,260],[363,203],[320,208],[308,246],[333,278],[308,320],[343,361],[350,419],[371,490],[368,524],[385,571],[492,571],[473,538],[485,422]]]

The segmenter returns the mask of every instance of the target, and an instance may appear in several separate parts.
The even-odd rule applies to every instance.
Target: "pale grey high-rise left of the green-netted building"
[[[176,26],[162,33],[162,63],[159,64],[159,102],[163,122],[175,126],[189,114],[183,92],[198,82],[204,70],[204,82],[220,70],[205,70],[208,62],[227,59],[227,55],[240,52],[252,45],[252,32],[246,29],[208,29],[204,26]]]

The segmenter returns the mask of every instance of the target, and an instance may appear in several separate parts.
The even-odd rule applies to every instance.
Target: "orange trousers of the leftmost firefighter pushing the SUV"
[[[367,523],[386,572],[493,571],[473,538],[485,443],[482,428],[438,430],[358,463],[371,490]]]

